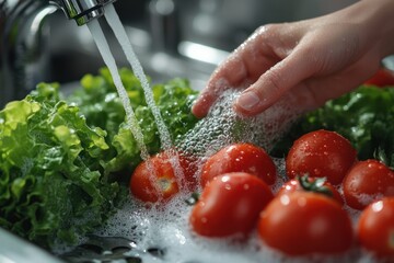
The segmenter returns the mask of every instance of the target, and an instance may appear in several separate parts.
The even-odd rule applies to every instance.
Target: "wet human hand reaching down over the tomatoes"
[[[262,26],[213,72],[193,113],[204,117],[229,88],[246,87],[234,102],[244,116],[282,98],[310,111],[357,88],[394,48],[394,25],[384,20],[394,1],[380,3],[360,1],[325,16]]]

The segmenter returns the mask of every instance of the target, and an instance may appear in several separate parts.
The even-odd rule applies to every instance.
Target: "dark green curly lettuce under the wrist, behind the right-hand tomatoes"
[[[285,156],[301,135],[315,129],[335,130],[350,140],[360,160],[376,158],[394,164],[394,89],[361,85],[303,116],[277,145]]]

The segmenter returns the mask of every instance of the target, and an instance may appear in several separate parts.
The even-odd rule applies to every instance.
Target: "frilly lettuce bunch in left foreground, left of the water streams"
[[[38,84],[0,112],[0,226],[43,247],[92,231],[120,193],[100,163],[106,132],[89,127],[58,90]]]

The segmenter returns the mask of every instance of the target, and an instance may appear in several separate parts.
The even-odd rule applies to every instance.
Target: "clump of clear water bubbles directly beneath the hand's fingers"
[[[242,89],[225,90],[208,116],[189,130],[183,140],[176,141],[182,150],[190,150],[200,157],[215,153],[232,142],[251,142],[269,150],[299,116],[287,104],[279,103],[273,110],[256,117],[241,117],[232,107]]]

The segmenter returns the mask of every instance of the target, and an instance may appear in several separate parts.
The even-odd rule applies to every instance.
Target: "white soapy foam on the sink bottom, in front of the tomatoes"
[[[210,263],[306,263],[306,262],[372,262],[372,258],[360,256],[357,249],[348,253],[324,258],[286,256],[266,247],[258,238],[257,229],[247,240],[211,239],[197,236],[188,225],[192,207],[179,195],[163,209],[144,208],[130,202],[120,209],[97,235],[124,237],[136,242],[135,250],[126,255],[138,255],[142,262],[210,262]],[[157,248],[164,251],[163,258],[157,258],[146,251]]]

